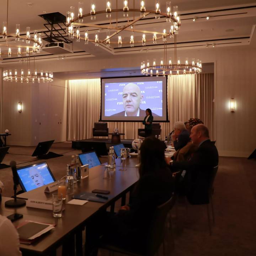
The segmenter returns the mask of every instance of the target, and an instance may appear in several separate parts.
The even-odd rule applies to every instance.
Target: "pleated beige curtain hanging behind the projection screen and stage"
[[[100,117],[100,79],[70,80],[68,90],[68,140],[92,138],[94,122]],[[161,123],[162,138],[176,121],[200,118],[213,131],[214,74],[173,75],[168,77],[167,103],[169,123]],[[138,138],[137,122],[108,122],[109,131],[118,128],[123,139]]]

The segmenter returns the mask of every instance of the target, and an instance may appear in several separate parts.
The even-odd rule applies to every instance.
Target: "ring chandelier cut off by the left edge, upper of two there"
[[[0,31],[0,36],[6,40],[6,42],[0,42],[0,57],[1,55],[8,56],[9,58],[12,57],[12,55],[21,57],[23,54],[29,56],[31,53],[34,55],[35,53],[41,52],[43,42],[41,34],[37,33],[37,30],[31,35],[30,27],[26,27],[26,34],[22,36],[20,34],[20,24],[16,24],[15,33],[9,33],[8,6],[9,0],[7,0],[6,21],[3,22],[2,32]],[[1,48],[4,48],[4,51],[2,51]]]

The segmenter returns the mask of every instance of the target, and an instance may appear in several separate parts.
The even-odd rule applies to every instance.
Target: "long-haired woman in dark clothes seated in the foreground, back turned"
[[[156,207],[169,200],[174,180],[167,167],[164,145],[149,137],[140,148],[139,180],[131,193],[130,204],[116,214],[101,212],[86,226],[86,255],[97,255],[100,235],[103,240],[123,248],[145,250],[149,224]]]

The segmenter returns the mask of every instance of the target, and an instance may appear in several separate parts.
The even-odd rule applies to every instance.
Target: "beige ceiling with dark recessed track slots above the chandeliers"
[[[89,2],[89,3],[88,3]],[[96,10],[105,10],[106,1],[95,0]],[[112,9],[115,9],[116,1],[112,2]],[[131,4],[132,2],[132,4]],[[135,8],[139,8],[139,0],[135,0]],[[9,0],[9,13],[8,13],[8,30],[10,32],[15,31],[15,24],[20,23],[21,34],[26,32],[26,27],[30,26],[31,31],[36,29],[38,32],[46,31],[44,24],[46,21],[38,16],[44,13],[49,14],[52,12],[60,12],[66,16],[66,11],[70,10],[70,6],[75,6],[75,10],[78,9],[78,1],[16,1]],[[177,36],[177,49],[196,49],[196,48],[206,48],[212,47],[213,44],[216,47],[233,47],[249,45],[252,35],[255,33],[256,24],[256,1],[251,0],[177,0],[172,1],[172,6],[178,5],[178,12],[181,18],[181,29]],[[118,0],[118,7],[122,8],[123,1]],[[133,6],[133,1],[130,1],[130,8]],[[145,0],[146,10],[154,10],[155,0]],[[160,1],[161,10],[165,9],[165,1]],[[90,12],[90,1],[84,1],[85,11],[84,13]],[[0,9],[0,24],[6,21],[6,11],[7,0],[1,1]],[[124,22],[118,23],[118,26],[123,26],[126,24],[128,18],[123,18],[123,13],[120,13],[120,19]],[[129,14],[129,20],[133,19],[133,14]],[[135,14],[135,18],[138,17],[140,13]],[[155,15],[148,15],[144,20],[136,23],[136,28],[139,30],[153,30],[162,32],[164,28],[169,30],[170,23],[166,22],[166,18],[162,17],[160,19],[155,19]],[[209,20],[206,17],[209,16]],[[112,14],[112,19],[115,21],[115,14]],[[196,21],[193,21],[196,18]],[[92,22],[89,18],[85,18],[84,22]],[[97,24],[106,23],[106,15],[96,15]],[[113,21],[112,21],[113,22]],[[65,26],[62,25],[65,29]],[[95,28],[87,27],[81,28],[80,34],[83,34],[86,30],[89,32],[89,38],[93,39],[95,32],[99,34],[99,38],[103,39],[107,35],[106,29],[100,29],[99,31]],[[110,31],[112,32],[112,31]],[[131,32],[122,31],[122,41],[129,41]],[[141,34],[134,33],[135,40],[140,40]],[[151,41],[151,35],[146,34],[146,46],[142,46],[141,43],[135,44],[134,47],[129,45],[122,45],[118,48],[114,41],[117,38],[112,38],[111,47],[108,49],[105,44],[99,44],[98,47],[94,46],[94,43],[84,44],[84,41],[70,43],[69,47],[71,52],[64,51],[64,53],[50,53],[47,49],[44,49],[41,54],[35,56],[35,60],[47,61],[52,59],[75,59],[75,58],[111,58],[113,55],[120,54],[139,54],[141,52],[158,52],[163,49],[162,40],[158,40],[157,44],[154,45]],[[0,39],[0,43],[4,43],[3,39]],[[47,42],[44,41],[45,46]],[[14,41],[9,42],[9,44],[15,44]],[[167,39],[167,48],[173,49],[174,40],[172,38]],[[0,47],[1,52],[4,52],[7,48]],[[8,58],[4,55],[0,58],[0,65],[8,65],[20,62],[20,58],[13,55]],[[129,71],[130,70],[130,71]],[[129,69],[127,72],[135,74],[136,70]],[[121,72],[124,74],[123,70],[115,70],[115,72]],[[103,70],[103,72],[105,72]],[[121,74],[120,73],[120,74]],[[81,74],[81,73],[80,73]],[[57,74],[58,75],[58,74]],[[70,75],[70,74],[69,74]],[[79,76],[77,74],[77,76]]]

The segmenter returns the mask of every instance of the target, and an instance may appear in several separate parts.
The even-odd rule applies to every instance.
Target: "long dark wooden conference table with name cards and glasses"
[[[24,220],[33,220],[42,223],[55,224],[55,228],[44,234],[31,245],[21,244],[20,250],[24,255],[55,255],[57,247],[66,245],[67,241],[70,246],[69,254],[82,255],[82,230],[90,218],[100,210],[106,210],[111,207],[114,210],[114,203],[122,198],[125,203],[125,195],[131,190],[133,185],[139,179],[138,168],[135,165],[138,159],[127,159],[126,170],[119,170],[120,161],[116,161],[116,170],[112,171],[111,179],[104,179],[105,166],[99,165],[89,169],[89,177],[82,179],[75,184],[75,194],[81,192],[91,192],[94,189],[109,190],[112,199],[106,203],[87,202],[84,205],[67,204],[73,195],[67,195],[64,201],[65,210],[61,218],[54,218],[52,210],[43,210],[30,207],[6,208],[4,202],[10,198],[3,197],[1,202],[0,214],[8,216],[12,213],[23,214],[23,218],[14,222],[17,226]],[[52,200],[52,193],[44,193],[46,186],[36,188],[32,191],[18,195],[23,199]],[[56,192],[56,191],[55,191]]]

